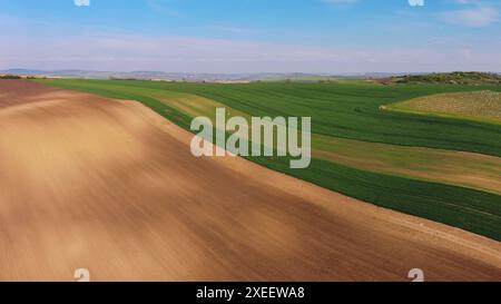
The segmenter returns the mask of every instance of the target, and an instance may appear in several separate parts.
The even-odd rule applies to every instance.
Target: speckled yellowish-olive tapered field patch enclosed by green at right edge
[[[391,110],[501,124],[501,92],[438,94],[396,102]]]

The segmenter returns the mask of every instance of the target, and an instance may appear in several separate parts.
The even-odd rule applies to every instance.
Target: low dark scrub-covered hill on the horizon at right
[[[392,77],[393,84],[450,84],[450,85],[501,85],[501,76],[493,72],[454,71],[428,75]]]

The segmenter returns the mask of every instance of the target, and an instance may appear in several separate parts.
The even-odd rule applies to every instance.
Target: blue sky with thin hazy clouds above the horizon
[[[501,0],[0,0],[0,69],[501,72]]]

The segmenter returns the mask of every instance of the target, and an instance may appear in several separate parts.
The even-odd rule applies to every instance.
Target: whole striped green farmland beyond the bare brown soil
[[[501,171],[501,126],[381,110],[383,105],[434,94],[501,91],[499,86],[381,86],[363,82],[215,85],[77,79],[40,81],[111,98],[137,100],[185,129],[188,129],[191,117],[212,117],[215,107],[220,105],[230,108],[232,115],[246,117],[310,116],[313,121],[314,159],[308,169],[292,170],[286,158],[259,157],[252,160],[382,207],[501,241],[501,196],[495,188],[495,182],[500,179],[497,174]],[[360,150],[350,151],[357,145]],[[371,145],[379,145],[377,149],[372,146],[374,157]],[[389,148],[384,148],[384,145]],[[414,151],[411,147],[429,149]],[[338,155],[328,155],[343,149],[346,150],[345,155],[351,156],[350,161]],[[461,154],[456,151],[490,157],[485,159],[487,163],[472,159],[474,164],[466,164],[468,158],[455,158]],[[442,158],[452,158],[452,164],[441,161]],[[455,170],[450,176],[487,175],[494,184],[491,188],[482,188],[454,178],[426,178],[412,170],[399,173],[374,166],[382,161],[394,168],[418,166],[413,169],[424,173],[430,164],[440,168],[442,163],[448,163],[449,168]],[[422,166],[419,166],[421,163]],[[440,173],[440,169],[435,171]]]

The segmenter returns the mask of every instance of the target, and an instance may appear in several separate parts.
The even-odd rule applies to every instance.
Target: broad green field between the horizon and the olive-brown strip
[[[381,105],[420,96],[458,90],[501,90],[500,86],[114,82],[115,86],[127,88],[157,88],[194,94],[253,116],[311,116],[315,121],[313,131],[321,135],[501,156],[501,126],[380,110]],[[86,86],[91,89],[92,85]]]

